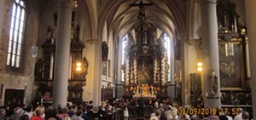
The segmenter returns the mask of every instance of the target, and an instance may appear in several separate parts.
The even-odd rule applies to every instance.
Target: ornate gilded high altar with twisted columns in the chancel
[[[143,3],[139,6],[140,24],[136,38],[125,44],[124,97],[167,97],[168,59],[164,39],[156,39],[156,27],[145,20]]]

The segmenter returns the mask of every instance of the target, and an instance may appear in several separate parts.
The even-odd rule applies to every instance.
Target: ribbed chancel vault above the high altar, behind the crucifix
[[[102,2],[99,0],[98,2]],[[102,35],[104,24],[108,24],[108,36],[113,30],[113,37],[122,37],[138,25],[138,7],[130,7],[131,3],[140,0],[104,0],[100,4],[98,18],[98,33]],[[145,7],[145,16],[148,22],[165,31],[170,36],[181,36],[185,27],[186,7],[183,0],[143,0],[143,3],[153,3]],[[107,21],[107,22],[106,22]],[[101,37],[100,37],[101,38]]]

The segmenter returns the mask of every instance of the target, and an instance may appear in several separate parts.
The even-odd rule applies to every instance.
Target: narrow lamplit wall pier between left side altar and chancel
[[[86,13],[86,12],[85,12]],[[90,16],[86,16],[88,14],[84,14],[84,9],[82,5],[76,9],[76,24],[80,26],[80,40],[84,43],[85,48],[83,49],[83,57],[86,57],[89,63],[88,66],[88,74],[86,76],[86,85],[83,87],[83,100],[89,101],[93,100],[93,89],[94,89],[94,81],[96,81],[96,77],[94,76],[95,70],[95,62],[97,59],[102,59],[101,56],[96,56],[96,40],[93,39],[90,35],[91,29],[89,28],[89,24],[87,21],[90,21]],[[96,26],[94,26],[96,27]]]

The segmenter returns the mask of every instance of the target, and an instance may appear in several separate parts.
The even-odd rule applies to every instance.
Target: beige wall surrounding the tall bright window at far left
[[[25,26],[25,38],[23,40],[22,54],[23,57],[20,73],[14,71],[7,71],[6,55],[9,43],[9,22],[10,22],[10,12],[12,5],[11,0],[1,1],[1,69],[0,69],[0,84],[3,84],[3,91],[1,91],[1,104],[4,103],[4,95],[6,89],[22,89],[25,90],[24,103],[26,105],[31,104],[33,97],[35,95],[34,81],[33,81],[33,71],[35,58],[32,58],[32,45],[36,45],[36,38],[38,37],[38,9],[35,9],[34,4],[31,1],[26,1],[26,26]],[[2,4],[3,3],[3,4]],[[2,12],[3,11],[3,12]],[[2,27],[3,26],[3,27]]]

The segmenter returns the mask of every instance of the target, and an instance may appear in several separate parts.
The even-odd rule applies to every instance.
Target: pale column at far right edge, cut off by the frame
[[[253,72],[256,71],[256,56],[254,52],[256,51],[255,48],[255,38],[256,38],[256,15],[255,15],[255,0],[245,0],[245,8],[246,8],[246,16],[247,16],[247,35],[248,35],[248,47],[249,47],[249,55],[250,55],[250,70],[252,71],[251,74],[251,86],[256,86],[256,74]],[[253,94],[253,117],[256,117],[256,88],[252,87],[252,94]]]

